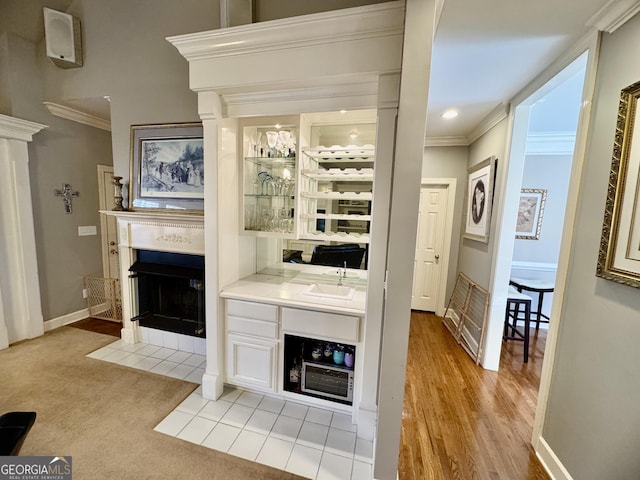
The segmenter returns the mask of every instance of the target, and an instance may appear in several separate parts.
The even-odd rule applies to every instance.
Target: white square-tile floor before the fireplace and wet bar
[[[194,383],[205,363],[197,353],[122,340],[88,357]],[[372,478],[373,442],[357,437],[349,415],[277,397],[225,388],[213,401],[198,387],[155,430],[315,480]]]

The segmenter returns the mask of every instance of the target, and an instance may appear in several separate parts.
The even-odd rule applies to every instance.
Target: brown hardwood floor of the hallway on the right
[[[400,480],[548,479],[530,445],[546,331],[502,349],[484,370],[442,320],[412,312],[399,459]]]

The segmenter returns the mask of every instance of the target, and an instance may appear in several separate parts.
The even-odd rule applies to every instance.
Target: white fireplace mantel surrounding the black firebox
[[[204,216],[157,211],[113,211],[118,222],[118,253],[120,256],[122,292],[122,340],[137,343],[141,340],[137,322],[130,321],[137,312],[135,283],[125,278],[135,261],[135,250],[204,255]]]

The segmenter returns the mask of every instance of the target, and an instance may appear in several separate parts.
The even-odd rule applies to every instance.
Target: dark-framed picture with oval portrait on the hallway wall
[[[496,157],[492,156],[469,169],[463,233],[465,238],[489,242],[495,165]]]

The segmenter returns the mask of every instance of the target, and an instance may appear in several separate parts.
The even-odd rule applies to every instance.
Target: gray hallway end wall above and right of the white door
[[[448,301],[453,292],[458,274],[458,251],[460,249],[460,230],[462,228],[462,205],[467,185],[468,147],[425,147],[422,159],[422,178],[455,178],[456,199],[453,212],[453,231],[451,232],[451,251],[447,272]]]

